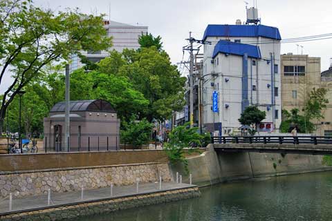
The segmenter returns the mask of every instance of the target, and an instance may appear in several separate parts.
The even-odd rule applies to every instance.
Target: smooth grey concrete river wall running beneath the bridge
[[[322,155],[280,153],[216,153],[210,144],[201,155],[188,158],[194,184],[216,184],[253,177],[271,177],[315,171],[331,171],[322,163]],[[172,166],[172,173],[185,174],[184,166]],[[183,176],[186,182],[188,175]]]

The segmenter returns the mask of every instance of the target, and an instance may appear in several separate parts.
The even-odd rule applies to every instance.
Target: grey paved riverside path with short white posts
[[[194,185],[190,184],[176,184],[174,182],[162,183],[162,189],[159,190],[159,183],[145,183],[139,184],[138,194],[142,193],[153,193],[160,191],[167,191],[172,189],[180,189],[185,187],[191,187]],[[81,191],[66,192],[66,193],[50,193],[51,203],[50,206],[70,204],[75,202],[84,202],[90,200],[110,199],[119,198],[122,196],[136,195],[136,184],[130,186],[114,186],[113,197],[111,197],[111,188],[100,188],[100,189],[89,189],[84,190],[83,200],[81,199]],[[12,197],[12,211],[21,211],[26,209],[37,209],[46,207],[48,199],[47,194],[35,195],[25,198],[15,198],[14,194]],[[9,212],[9,200],[0,201],[0,215],[1,213]]]

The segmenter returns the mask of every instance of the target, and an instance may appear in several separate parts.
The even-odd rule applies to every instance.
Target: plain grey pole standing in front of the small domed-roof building
[[[64,150],[69,151],[69,136],[70,136],[70,118],[69,118],[69,91],[70,91],[70,81],[69,81],[69,64],[66,64],[66,77],[65,77],[65,106],[64,106]]]

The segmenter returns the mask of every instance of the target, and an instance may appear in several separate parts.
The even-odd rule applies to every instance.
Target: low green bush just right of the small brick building
[[[121,130],[121,142],[136,147],[147,144],[151,137],[152,128],[153,124],[149,123],[147,119],[137,120],[133,116],[128,123],[124,123],[124,128]]]

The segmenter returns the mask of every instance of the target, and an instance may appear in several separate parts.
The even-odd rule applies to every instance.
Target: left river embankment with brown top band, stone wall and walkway
[[[175,187],[167,188],[167,182],[174,181],[171,174],[165,151],[0,155],[0,220],[66,220],[200,195],[192,185],[174,184]],[[157,190],[155,185],[160,177],[165,186]],[[134,191],[137,179],[140,186],[150,184],[150,188],[145,192],[140,189],[137,194]],[[111,184],[118,194],[129,189],[129,195],[105,198]],[[80,198],[82,188],[86,191],[84,200]],[[47,204],[48,189],[53,205]],[[106,193],[98,196],[103,189]],[[42,199],[39,204],[38,198]],[[64,202],[64,198],[69,201]]]

